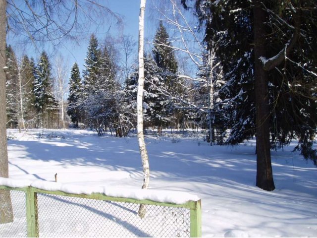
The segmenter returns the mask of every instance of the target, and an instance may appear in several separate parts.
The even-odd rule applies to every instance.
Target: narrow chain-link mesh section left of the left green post
[[[10,193],[13,222],[0,224],[0,237],[27,237],[26,193],[24,191],[0,190],[0,193],[3,192]],[[0,206],[2,206],[2,204],[0,204]]]

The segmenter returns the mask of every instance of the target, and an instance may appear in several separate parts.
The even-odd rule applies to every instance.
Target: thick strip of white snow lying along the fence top
[[[156,202],[166,202],[183,204],[188,201],[198,201],[200,198],[187,192],[168,191],[160,189],[131,189],[113,186],[79,186],[72,184],[64,184],[60,182],[44,181],[44,180],[26,180],[26,179],[6,179],[0,178],[0,185],[13,188],[22,188],[31,186],[47,191],[62,191],[72,194],[104,193],[110,197],[124,197],[137,200],[152,200]]]

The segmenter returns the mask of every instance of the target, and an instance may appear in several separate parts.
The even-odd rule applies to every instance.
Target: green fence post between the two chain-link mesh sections
[[[29,186],[26,189],[26,223],[28,237],[39,237],[37,193]]]

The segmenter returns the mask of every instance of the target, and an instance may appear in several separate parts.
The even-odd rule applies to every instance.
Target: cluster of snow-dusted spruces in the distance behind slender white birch
[[[168,41],[162,24],[155,39]],[[118,54],[113,41],[105,40],[100,46],[96,36],[92,35],[82,77],[77,63],[73,64],[67,113],[75,126],[94,128],[100,135],[109,129],[120,137],[136,127],[138,68],[133,66],[129,70],[131,73],[120,74]],[[163,93],[181,87],[173,76],[176,72],[177,60],[170,48],[155,46],[153,56],[146,54],[144,122],[146,127],[157,128],[159,133],[173,121],[173,113],[176,114],[175,103]],[[123,84],[120,83],[122,76],[126,77],[121,80]]]

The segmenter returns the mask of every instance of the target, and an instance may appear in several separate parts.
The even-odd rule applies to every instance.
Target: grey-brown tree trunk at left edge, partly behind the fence
[[[5,33],[6,0],[0,0],[0,177],[8,178],[8,154],[6,146],[6,107],[5,107]],[[10,191],[0,191],[0,224],[13,222]]]

